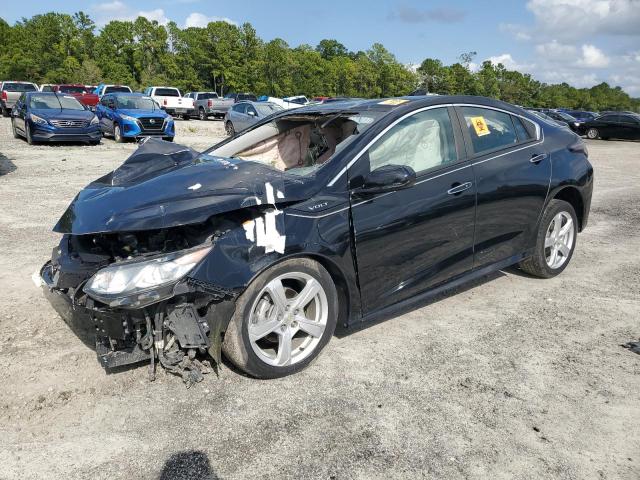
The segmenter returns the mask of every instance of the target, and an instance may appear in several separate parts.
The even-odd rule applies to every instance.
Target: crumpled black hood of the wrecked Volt
[[[199,154],[150,138],[120,167],[87,185],[53,230],[76,235],[154,230],[305,199],[295,193],[307,190],[300,188],[304,182],[286,177],[261,163]],[[268,191],[275,192],[272,198]]]

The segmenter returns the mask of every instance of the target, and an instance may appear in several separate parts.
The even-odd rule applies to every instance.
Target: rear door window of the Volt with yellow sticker
[[[508,113],[480,107],[462,107],[473,150],[490,152],[518,143],[515,127]]]

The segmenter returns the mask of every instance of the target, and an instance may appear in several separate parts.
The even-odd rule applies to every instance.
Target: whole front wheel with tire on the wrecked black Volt
[[[271,291],[283,296],[272,296]],[[300,297],[302,291],[315,295]],[[276,297],[282,300],[275,302]],[[305,306],[298,309],[296,301],[303,298]],[[307,258],[285,260],[261,273],[238,297],[222,351],[253,377],[284,377],[317,358],[331,339],[337,319],[338,293],[325,268]]]

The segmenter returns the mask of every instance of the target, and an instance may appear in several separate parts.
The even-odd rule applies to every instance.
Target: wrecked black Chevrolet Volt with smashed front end
[[[511,265],[558,275],[592,188],[582,139],[503,102],[312,105],[203,153],[150,139],[73,200],[41,279],[107,368],[157,359],[190,384],[223,352],[274,378],[337,324]]]

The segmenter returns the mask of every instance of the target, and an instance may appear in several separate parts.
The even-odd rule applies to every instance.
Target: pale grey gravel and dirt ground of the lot
[[[640,336],[640,143],[589,144],[591,219],[560,277],[507,270],[299,375],[190,390],[106,374],[31,281],[76,192],[134,148],[29,147],[0,119],[1,479],[640,478],[640,355],[620,346]]]

